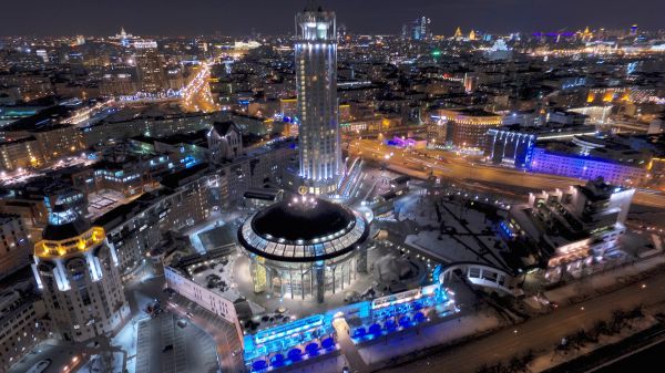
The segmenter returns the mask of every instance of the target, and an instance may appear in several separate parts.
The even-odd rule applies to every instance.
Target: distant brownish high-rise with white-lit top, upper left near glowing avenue
[[[135,42],[139,86],[145,93],[158,93],[168,89],[164,70],[164,55],[154,41]]]

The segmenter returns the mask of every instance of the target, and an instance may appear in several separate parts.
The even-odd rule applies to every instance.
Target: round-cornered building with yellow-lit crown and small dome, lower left
[[[130,314],[117,257],[101,227],[91,227],[71,207],[55,205],[33,271],[52,322],[64,340],[85,341],[114,331]]]

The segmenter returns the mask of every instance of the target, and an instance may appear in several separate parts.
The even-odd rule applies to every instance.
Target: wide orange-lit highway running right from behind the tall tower
[[[487,166],[468,162],[464,158],[449,155],[442,156],[442,152],[419,151],[421,154],[417,154],[379,144],[376,139],[352,141],[348,149],[352,155],[383,162],[391,169],[421,178],[432,174],[437,177],[502,184],[535,190],[563,189],[573,184],[581,183],[580,179],[571,177],[532,174],[524,170]],[[428,156],[423,156],[422,154],[428,154]],[[436,159],[436,156],[439,156],[441,159]],[[633,197],[633,203],[665,208],[665,196],[659,193],[637,190]]]

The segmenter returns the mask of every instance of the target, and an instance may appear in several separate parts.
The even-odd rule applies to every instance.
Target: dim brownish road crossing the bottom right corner
[[[645,287],[642,287],[642,284]],[[659,273],[638,284],[601,296],[575,305],[531,319],[522,324],[500,331],[475,342],[451,348],[427,359],[383,370],[410,373],[464,373],[474,372],[483,363],[492,364],[521,355],[528,350],[550,350],[564,335],[580,329],[589,329],[596,320],[610,319],[613,310],[646,307],[665,302],[665,273]]]

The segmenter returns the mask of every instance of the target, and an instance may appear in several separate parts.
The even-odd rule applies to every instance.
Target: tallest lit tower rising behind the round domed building
[[[330,195],[344,172],[337,103],[335,12],[307,6],[296,15],[299,176],[308,191]]]

